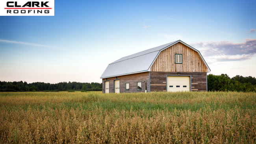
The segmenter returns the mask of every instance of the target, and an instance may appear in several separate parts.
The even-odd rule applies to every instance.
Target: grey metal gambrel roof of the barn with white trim
[[[208,67],[207,63],[204,61],[204,58],[202,57],[202,55],[198,50],[178,40],[178,41],[170,42],[168,44],[164,44],[155,48],[150,48],[148,50],[144,50],[136,54],[122,57],[121,59],[118,59],[117,61],[110,63],[100,78],[110,78],[114,76],[135,74],[139,72],[149,72],[150,67],[152,66],[152,64],[154,63],[155,59],[158,57],[160,52],[178,42],[181,42],[187,47],[195,50],[200,55],[200,58],[206,65],[207,72],[211,72],[210,68]]]

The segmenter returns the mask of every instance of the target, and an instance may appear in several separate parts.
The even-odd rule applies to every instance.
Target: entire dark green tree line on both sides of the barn
[[[227,74],[207,76],[208,91],[237,91],[256,92],[256,78],[235,76],[230,78]],[[28,92],[28,91],[61,91],[61,90],[86,90],[102,91],[102,83],[77,83],[61,82],[50,83],[27,83],[26,81],[6,82],[0,81],[0,92]]]

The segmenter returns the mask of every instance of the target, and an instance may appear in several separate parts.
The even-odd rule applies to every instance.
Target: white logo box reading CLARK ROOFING
[[[0,0],[0,16],[54,16],[54,0]]]

